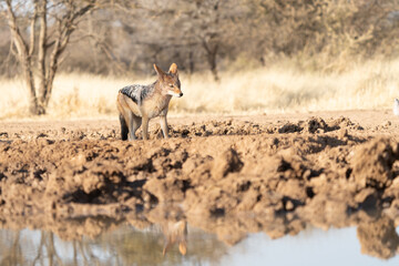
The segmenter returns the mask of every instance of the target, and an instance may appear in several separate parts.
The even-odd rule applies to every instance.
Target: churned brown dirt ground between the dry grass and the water
[[[170,126],[170,140],[153,122],[150,141],[123,142],[116,119],[0,122],[0,226],[73,238],[110,226],[91,217],[183,219],[235,244],[253,232],[355,225],[364,253],[398,252],[390,111],[200,115]]]

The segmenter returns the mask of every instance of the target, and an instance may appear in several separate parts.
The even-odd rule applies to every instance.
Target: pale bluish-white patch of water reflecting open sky
[[[222,265],[399,265],[399,256],[388,260],[360,253],[356,228],[311,229],[297,236],[270,241],[255,234],[228,250]]]

